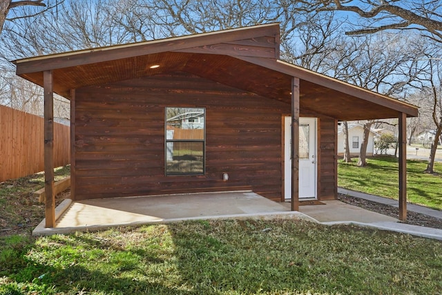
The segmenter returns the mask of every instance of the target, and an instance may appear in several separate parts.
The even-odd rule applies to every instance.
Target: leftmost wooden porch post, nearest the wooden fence
[[[45,70],[44,79],[44,189],[45,227],[55,227],[54,195],[54,93],[51,70]]]

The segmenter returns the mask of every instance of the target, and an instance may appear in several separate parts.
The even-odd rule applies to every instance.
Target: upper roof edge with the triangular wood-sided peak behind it
[[[195,52],[195,50],[203,50],[204,53],[229,53],[228,55],[233,56],[244,56],[244,53],[249,52],[252,54],[247,54],[246,56],[273,57],[278,59],[280,46],[279,35],[279,23],[269,23],[216,32],[204,32],[197,35],[143,41],[133,44],[76,50],[67,53],[17,59],[12,62],[17,65],[17,75],[21,75],[24,73],[55,70],[58,68],[81,66],[167,51]],[[273,41],[269,41],[268,39],[266,41],[266,37],[270,37]],[[217,44],[217,46],[213,46],[213,44]],[[224,44],[224,46],[221,44]],[[267,50],[257,50],[257,46],[253,46],[256,44],[261,44],[262,48],[269,48],[269,44],[271,44],[271,48]],[[256,55],[258,51],[264,52],[265,55]]]

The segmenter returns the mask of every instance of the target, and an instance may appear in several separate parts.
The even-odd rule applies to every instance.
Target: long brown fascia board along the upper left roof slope
[[[71,66],[81,66],[102,61],[124,59],[140,55],[150,55],[166,51],[182,50],[216,44],[240,39],[250,39],[262,36],[279,36],[279,24],[223,30],[218,32],[207,32],[200,35],[188,35],[153,41],[140,42],[138,44],[126,44],[120,46],[108,46],[93,48],[89,50],[78,50],[70,53],[31,57],[13,61],[17,65],[17,75],[23,73],[35,73],[43,70],[55,70]],[[278,44],[279,46],[279,44]]]

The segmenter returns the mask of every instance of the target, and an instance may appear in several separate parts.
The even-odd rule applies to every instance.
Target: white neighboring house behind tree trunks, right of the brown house
[[[338,155],[344,154],[344,142],[345,136],[343,131],[343,125],[338,125]],[[374,138],[377,136],[377,133],[370,129],[368,135],[368,143],[367,143],[367,155],[371,156],[374,154]],[[350,155],[352,157],[358,156],[361,151],[361,143],[364,137],[364,126],[357,123],[349,123],[348,124],[348,144],[350,149]]]

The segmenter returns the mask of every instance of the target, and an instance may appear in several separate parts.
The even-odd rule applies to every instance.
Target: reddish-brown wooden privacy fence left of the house
[[[70,163],[70,127],[54,123],[54,165]],[[0,106],[0,182],[44,171],[44,119]]]

